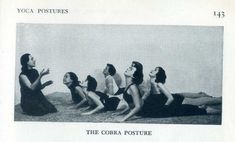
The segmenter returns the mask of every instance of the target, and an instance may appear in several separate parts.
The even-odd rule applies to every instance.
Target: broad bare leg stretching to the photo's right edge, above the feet
[[[222,104],[222,97],[199,97],[199,98],[185,98],[182,104],[191,105],[219,105]]]

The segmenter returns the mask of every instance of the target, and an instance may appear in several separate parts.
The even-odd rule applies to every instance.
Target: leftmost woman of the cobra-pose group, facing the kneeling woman
[[[87,105],[86,95],[83,91],[83,87],[78,81],[78,77],[73,72],[67,72],[64,75],[63,83],[69,88],[72,96],[72,101],[76,104],[75,108]]]

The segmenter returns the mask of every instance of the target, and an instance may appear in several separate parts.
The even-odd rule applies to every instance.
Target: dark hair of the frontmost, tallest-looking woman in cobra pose
[[[132,82],[136,85],[139,85],[143,82],[143,65],[137,61],[133,61],[132,64],[134,64],[134,67],[136,68],[136,71],[133,74]]]

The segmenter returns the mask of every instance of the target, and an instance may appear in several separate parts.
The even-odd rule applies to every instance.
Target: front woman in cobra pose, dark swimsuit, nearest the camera
[[[120,121],[126,121],[134,115],[142,117],[170,117],[182,115],[202,115],[215,113],[210,108],[199,108],[194,105],[182,104],[183,96],[171,94],[164,86],[164,82],[157,81],[159,92],[155,96],[141,96],[138,89],[143,81],[143,66],[139,62],[132,62],[125,71],[126,88],[123,98],[128,102],[130,111]],[[156,82],[154,80],[154,82]],[[127,110],[126,110],[127,111]]]

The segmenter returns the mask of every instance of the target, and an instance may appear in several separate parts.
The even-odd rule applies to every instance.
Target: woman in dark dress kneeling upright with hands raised
[[[35,67],[35,60],[28,53],[21,56],[20,62],[22,65],[22,72],[19,75],[21,92],[20,105],[23,112],[34,116],[57,112],[54,105],[52,105],[41,92],[43,88],[53,83],[52,81],[47,81],[41,84],[41,78],[49,74],[49,69],[43,69],[39,74],[36,69],[33,69]]]

